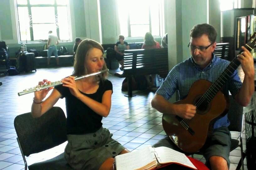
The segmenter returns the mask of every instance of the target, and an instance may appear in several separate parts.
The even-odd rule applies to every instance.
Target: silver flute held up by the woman
[[[107,71],[109,71],[109,69],[105,69],[105,70],[102,70],[102,71],[99,71],[99,72],[96,72],[96,73],[86,74],[86,75],[79,76],[79,77],[77,76],[77,77],[75,77],[75,81],[80,80],[82,78],[95,76],[95,75],[98,75],[98,74],[101,74],[101,73],[104,73],[104,72],[107,72]],[[45,84],[42,84],[42,85],[37,85],[33,88],[27,88],[27,89],[23,90],[22,92],[19,92],[18,96],[22,96],[22,95],[28,94],[28,93],[33,93],[33,92],[40,91],[40,90],[50,88],[50,87],[53,87],[53,86],[59,86],[61,84],[63,84],[61,81],[56,81],[56,82],[51,82],[51,84],[45,83]]]

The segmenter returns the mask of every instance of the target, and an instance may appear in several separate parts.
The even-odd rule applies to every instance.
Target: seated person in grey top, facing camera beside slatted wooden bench
[[[125,42],[125,36],[119,35],[118,36],[119,42],[115,44],[115,52],[116,52],[116,59],[121,65],[120,70],[124,69],[124,52],[125,50],[129,50],[130,46],[127,42]]]

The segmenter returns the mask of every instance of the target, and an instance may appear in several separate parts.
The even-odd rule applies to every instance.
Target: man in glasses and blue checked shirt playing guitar
[[[195,81],[205,79],[214,82],[229,65],[230,62],[217,58],[213,54],[216,47],[216,36],[215,28],[209,24],[198,24],[192,28],[188,46],[191,57],[177,64],[169,72],[166,80],[152,99],[153,108],[163,114],[173,114],[184,119],[191,119],[195,116],[195,105],[174,104],[168,102],[168,99],[176,90],[180,99],[184,99]],[[237,59],[240,61],[245,74],[243,83],[241,83],[237,70],[235,70],[221,91],[225,96],[228,96],[228,91],[230,91],[237,103],[241,106],[247,106],[254,93],[254,63],[251,53],[245,47],[242,49],[243,53],[238,55]],[[226,170],[229,168],[231,147],[231,134],[227,128],[229,124],[227,114],[217,118],[213,125],[211,138],[207,139],[202,149],[206,165],[211,169]],[[154,147],[159,146],[166,146],[183,152],[170,140],[169,136],[165,136],[154,145]]]

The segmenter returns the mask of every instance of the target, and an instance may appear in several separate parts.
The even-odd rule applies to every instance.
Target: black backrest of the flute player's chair
[[[14,119],[20,147],[29,156],[67,141],[66,117],[63,110],[53,107],[40,118],[24,113]]]

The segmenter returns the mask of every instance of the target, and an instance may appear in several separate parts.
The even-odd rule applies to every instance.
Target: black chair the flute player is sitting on
[[[40,118],[24,113],[14,119],[17,141],[27,170],[25,156],[53,148],[67,141],[66,117],[63,110],[53,107]],[[29,170],[70,170],[64,153],[44,162],[29,165]]]

